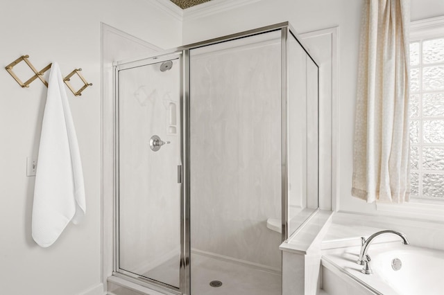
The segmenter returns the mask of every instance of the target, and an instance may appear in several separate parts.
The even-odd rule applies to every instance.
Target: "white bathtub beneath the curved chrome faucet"
[[[362,265],[356,263],[359,249],[347,247],[323,252],[322,285],[329,295],[444,294],[444,251],[402,242],[370,244],[368,255],[373,274],[367,275],[361,273]],[[392,267],[394,259],[398,259],[395,268],[400,266],[399,270]]]

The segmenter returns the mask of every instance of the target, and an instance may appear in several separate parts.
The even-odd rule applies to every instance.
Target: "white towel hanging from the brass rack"
[[[35,175],[33,239],[41,247],[51,246],[71,220],[82,220],[85,210],[76,130],[60,68],[53,62]]]

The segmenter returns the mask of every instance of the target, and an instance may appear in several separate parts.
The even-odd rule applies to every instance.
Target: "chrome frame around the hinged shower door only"
[[[114,64],[114,244],[113,244],[113,276],[125,278],[128,281],[137,283],[149,289],[159,292],[168,291],[171,294],[189,294],[189,157],[186,156],[189,149],[189,107],[187,107],[187,96],[189,87],[186,81],[189,81],[189,71],[186,64],[189,58],[186,50],[165,53],[154,57],[144,58],[142,60],[119,62]],[[139,66],[148,66],[159,62],[169,60],[178,60],[180,64],[180,163],[178,166],[178,183],[180,184],[180,287],[173,287],[157,280],[144,278],[120,268],[119,265],[119,71],[132,69]],[[189,84],[189,83],[188,83]],[[187,193],[188,192],[188,193]],[[187,209],[188,208],[188,209]]]

